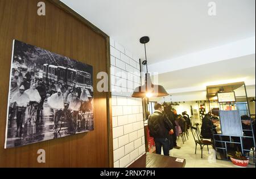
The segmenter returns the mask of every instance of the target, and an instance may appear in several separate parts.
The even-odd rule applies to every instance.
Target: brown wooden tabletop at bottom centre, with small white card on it
[[[147,152],[128,168],[184,168],[185,164],[185,159]]]

